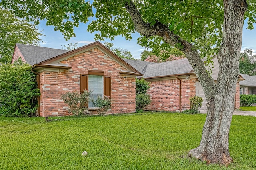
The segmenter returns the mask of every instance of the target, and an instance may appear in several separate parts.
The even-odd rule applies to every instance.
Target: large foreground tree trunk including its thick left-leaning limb
[[[217,84],[204,67],[194,46],[169,30],[168,25],[156,21],[154,25],[143,21],[132,1],[126,3],[137,32],[150,37],[158,35],[166,43],[180,48],[188,58],[207,100],[207,116],[199,147],[190,150],[189,155],[205,160],[207,163],[228,165],[232,162],[228,150],[228,135],[235,105],[236,82],[239,75],[239,55],[242,44],[242,27],[246,0],[224,0],[223,39],[217,54],[219,75]]]

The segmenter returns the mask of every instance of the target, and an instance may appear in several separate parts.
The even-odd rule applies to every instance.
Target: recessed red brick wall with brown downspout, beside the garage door
[[[148,94],[152,100],[146,110],[162,111],[183,111],[190,109],[189,98],[195,96],[196,86],[195,78],[180,78],[181,80],[181,108],[179,106],[179,88],[178,79],[157,80],[150,82]]]

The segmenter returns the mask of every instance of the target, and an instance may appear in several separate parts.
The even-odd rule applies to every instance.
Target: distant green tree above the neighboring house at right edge
[[[240,53],[240,73],[256,75],[256,54],[252,55],[252,52],[252,49],[245,49]]]

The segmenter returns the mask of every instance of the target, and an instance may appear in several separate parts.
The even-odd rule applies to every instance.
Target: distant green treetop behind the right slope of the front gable
[[[120,47],[114,47],[113,43],[109,43],[109,42],[105,42],[104,45],[110,49],[111,51],[113,51],[116,55],[118,55],[121,58],[124,59],[132,59],[132,60],[136,60],[134,57],[132,57],[132,54],[130,51],[128,51],[127,49],[122,49]]]

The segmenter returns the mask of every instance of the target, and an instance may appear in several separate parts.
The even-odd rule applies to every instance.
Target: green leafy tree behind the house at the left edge
[[[0,8],[0,63],[11,63],[15,43],[38,45],[40,31],[34,24]]]

